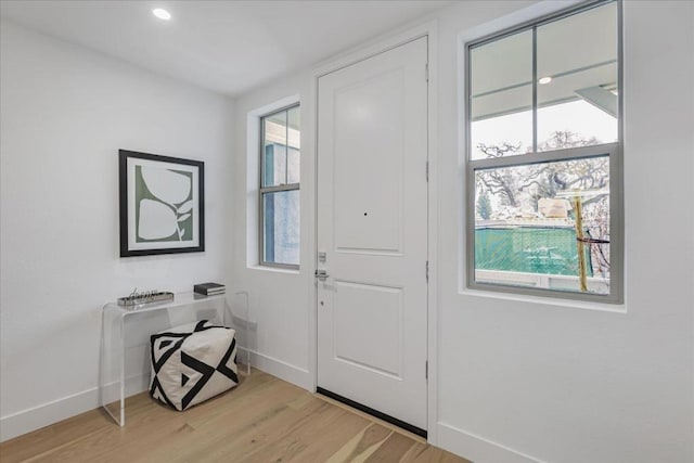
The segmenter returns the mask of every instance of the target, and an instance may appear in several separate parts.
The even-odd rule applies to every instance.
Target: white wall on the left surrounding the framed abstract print
[[[1,27],[2,439],[97,407],[101,307],[230,260],[233,102]],[[206,252],[118,257],[118,149],[201,159]]]

